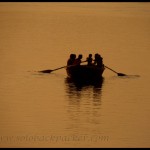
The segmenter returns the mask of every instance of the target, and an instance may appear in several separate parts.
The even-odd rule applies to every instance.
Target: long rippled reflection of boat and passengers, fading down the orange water
[[[104,78],[96,82],[75,82],[65,79],[67,96],[67,114],[69,118],[67,131],[77,134],[99,133],[95,126],[101,117],[101,96]],[[80,132],[80,133],[79,133]],[[82,133],[81,133],[82,132]]]

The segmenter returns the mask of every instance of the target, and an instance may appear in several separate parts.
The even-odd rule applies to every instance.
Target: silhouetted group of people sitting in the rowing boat
[[[82,57],[83,57],[82,54],[79,54],[77,58],[76,58],[76,54],[70,54],[70,58],[67,61],[67,66],[80,65],[81,62],[82,62],[81,61]],[[96,53],[94,55],[94,59],[92,58],[92,54],[89,54],[86,61],[83,61],[83,62],[87,62],[88,66],[91,66],[91,65],[96,65],[96,66],[99,66],[99,67],[103,66],[103,58],[98,53]]]

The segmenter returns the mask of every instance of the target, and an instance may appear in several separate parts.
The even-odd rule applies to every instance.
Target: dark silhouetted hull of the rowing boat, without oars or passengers
[[[78,65],[66,68],[68,77],[80,81],[93,81],[101,79],[104,70],[104,65],[102,67],[98,67],[95,65]]]

